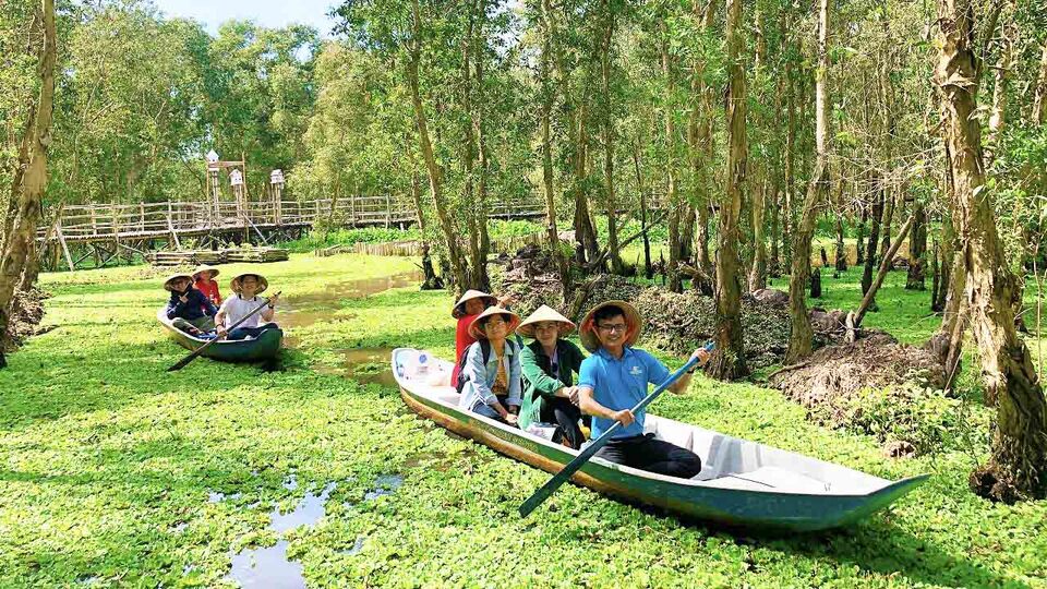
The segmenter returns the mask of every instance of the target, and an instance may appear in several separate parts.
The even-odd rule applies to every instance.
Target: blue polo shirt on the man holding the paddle
[[[634,348],[625,348],[622,359],[617,359],[603,348],[581,362],[578,373],[578,386],[592,389],[597,402],[612,409],[631,409],[647,396],[647,385],[659,385],[669,377],[669,369],[650,353]],[[630,437],[643,433],[643,413],[636,413],[636,421],[628,428],[622,428],[614,438]],[[614,420],[593,417],[592,440],[599,437],[614,423]]]

